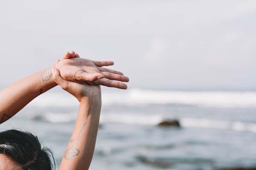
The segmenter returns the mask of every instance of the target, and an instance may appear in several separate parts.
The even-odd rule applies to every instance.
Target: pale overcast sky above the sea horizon
[[[0,86],[74,50],[130,87],[256,89],[256,1],[1,0],[0,49]]]

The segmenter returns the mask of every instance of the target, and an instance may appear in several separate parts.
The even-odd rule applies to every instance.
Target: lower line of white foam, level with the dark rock
[[[43,119],[49,122],[71,122],[76,120],[75,113],[46,113]],[[162,115],[145,115],[135,113],[108,113],[102,114],[101,123],[121,123],[130,125],[157,125],[166,118]],[[171,118],[172,119],[172,118]],[[183,118],[181,127],[209,128],[220,130],[250,131],[256,133],[256,124],[239,121],[224,121],[214,119]]]

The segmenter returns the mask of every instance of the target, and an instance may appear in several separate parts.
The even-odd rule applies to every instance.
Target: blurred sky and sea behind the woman
[[[256,1],[0,1],[0,88],[74,50],[113,60],[91,170],[256,167]],[[79,103],[54,88],[0,126],[39,136],[58,164]]]

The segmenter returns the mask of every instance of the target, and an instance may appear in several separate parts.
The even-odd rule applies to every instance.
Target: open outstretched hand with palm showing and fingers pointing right
[[[127,85],[122,82],[129,82],[128,77],[125,77],[120,71],[102,67],[113,64],[112,61],[99,62],[83,59],[72,51],[66,53],[62,60],[58,60],[55,68],[60,71],[63,79],[70,82],[127,89]]]

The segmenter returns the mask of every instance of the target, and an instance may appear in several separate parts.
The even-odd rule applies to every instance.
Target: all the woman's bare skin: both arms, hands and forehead
[[[75,52],[66,53],[54,67],[38,71],[0,91],[0,124],[14,116],[35,97],[57,84],[78,99],[79,113],[60,170],[87,170],[93,157],[101,110],[99,85],[126,89],[128,77],[102,66],[113,62],[81,59]],[[116,81],[117,80],[117,81]],[[80,84],[79,84],[80,83]],[[0,170],[20,170],[20,165],[0,154]]]

